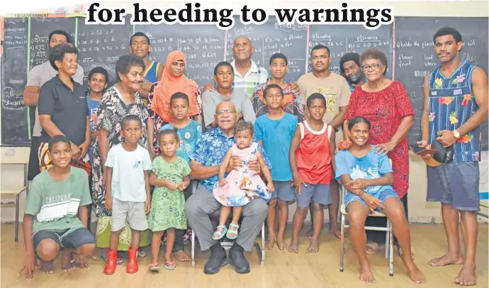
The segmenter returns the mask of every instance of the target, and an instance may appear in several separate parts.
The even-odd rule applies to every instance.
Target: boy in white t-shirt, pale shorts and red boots
[[[120,232],[128,218],[131,228],[131,245],[126,272],[137,272],[137,248],[141,231],[147,226],[146,215],[150,212],[150,153],[137,144],[142,135],[142,123],[138,116],[123,118],[120,134],[124,142],[108,151],[106,160],[106,207],[112,210],[112,233],[108,248],[107,265],[103,272],[116,272],[117,248]]]

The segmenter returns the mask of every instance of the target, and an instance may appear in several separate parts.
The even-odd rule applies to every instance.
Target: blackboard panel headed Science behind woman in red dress
[[[376,30],[367,30],[363,26],[352,25],[311,25],[309,27],[309,50],[320,44],[330,48],[330,71],[340,73],[339,59],[348,52],[361,54],[367,49],[377,48],[387,57],[386,77],[392,79],[392,25],[383,25]],[[311,72],[310,57],[308,58],[308,72]]]

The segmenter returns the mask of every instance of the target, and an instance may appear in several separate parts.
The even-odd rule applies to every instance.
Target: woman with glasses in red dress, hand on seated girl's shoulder
[[[369,49],[360,57],[361,69],[368,81],[357,86],[350,96],[348,111],[344,116],[344,131],[349,135],[347,121],[363,116],[371,123],[370,143],[377,153],[392,160],[394,191],[403,201],[408,216],[409,155],[405,137],[414,122],[415,112],[406,89],[398,81],[384,77],[387,57],[380,50]],[[368,218],[366,226],[386,226],[386,218]],[[375,253],[379,243],[385,243],[386,233],[367,231],[366,252]],[[401,251],[400,251],[401,253]]]

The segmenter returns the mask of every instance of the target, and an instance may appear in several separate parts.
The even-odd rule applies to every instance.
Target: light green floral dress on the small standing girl
[[[158,179],[172,181],[178,185],[185,176],[189,176],[190,167],[181,157],[177,157],[175,162],[167,162],[158,156],[153,160],[151,171]],[[147,217],[148,226],[153,232],[168,228],[184,230],[187,228],[184,209],[184,192],[162,186],[154,187],[150,214]]]

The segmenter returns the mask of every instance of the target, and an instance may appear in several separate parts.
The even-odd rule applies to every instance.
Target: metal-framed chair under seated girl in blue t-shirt
[[[344,205],[344,196],[347,192],[347,189],[342,186],[341,188],[341,197],[340,201],[342,203],[342,206],[340,208],[340,213],[342,214],[342,223],[341,223],[341,250],[340,250],[340,255],[339,255],[339,272],[343,272],[343,264],[344,264],[344,233],[345,229],[349,228],[349,225],[345,223],[345,218],[348,216],[347,213],[347,207]],[[369,216],[375,216],[375,217],[386,217],[385,214],[381,212],[377,212],[376,214],[371,214]],[[371,231],[386,231],[386,258],[389,259],[389,276],[392,277],[394,275],[394,268],[393,268],[393,231],[392,231],[392,223],[390,223],[389,219],[387,219],[387,226],[386,228],[383,227],[371,227],[371,226],[365,226],[365,230],[371,230]]]

